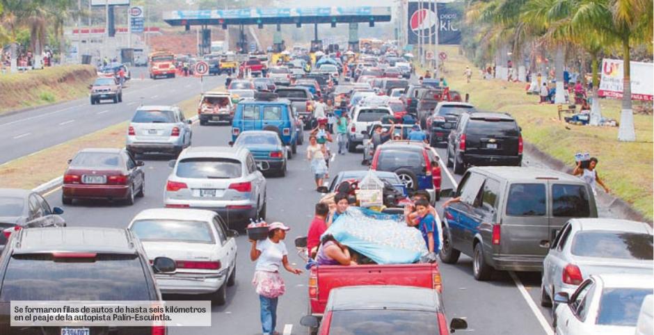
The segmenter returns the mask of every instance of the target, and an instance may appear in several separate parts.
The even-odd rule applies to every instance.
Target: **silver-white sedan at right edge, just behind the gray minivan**
[[[571,219],[550,243],[543,260],[541,305],[559,292],[572,294],[590,275],[654,272],[652,227],[607,218]]]

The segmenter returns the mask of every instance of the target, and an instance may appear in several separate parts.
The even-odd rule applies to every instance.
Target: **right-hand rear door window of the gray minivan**
[[[586,186],[552,185],[552,215],[588,218],[591,215],[591,205]]]

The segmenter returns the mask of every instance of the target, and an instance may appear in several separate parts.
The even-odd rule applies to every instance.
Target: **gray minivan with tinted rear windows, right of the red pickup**
[[[472,257],[477,280],[493,270],[541,271],[548,242],[571,218],[597,218],[591,187],[540,168],[484,167],[465,173],[445,208],[440,259]]]

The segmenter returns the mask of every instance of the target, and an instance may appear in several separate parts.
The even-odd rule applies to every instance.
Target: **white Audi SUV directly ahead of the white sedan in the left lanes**
[[[266,179],[244,147],[190,147],[170,161],[163,204],[215,211],[229,227],[266,218]]]

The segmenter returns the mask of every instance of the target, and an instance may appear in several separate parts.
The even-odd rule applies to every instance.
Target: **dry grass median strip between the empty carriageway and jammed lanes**
[[[180,102],[177,106],[182,108],[186,117],[192,117],[198,113],[199,99],[200,95],[196,95]],[[56,177],[61,177],[67,167],[68,159],[83,148],[124,147],[128,125],[128,121],[114,124],[74,140],[42,149],[34,154],[8,161],[0,165],[0,185],[3,188],[32,189]]]

